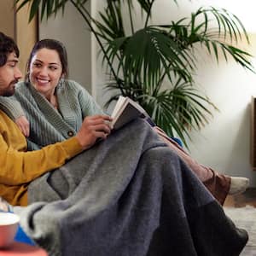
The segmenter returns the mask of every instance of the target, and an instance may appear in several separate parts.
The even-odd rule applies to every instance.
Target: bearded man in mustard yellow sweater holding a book
[[[12,38],[0,32],[0,95],[12,96],[21,78],[19,49]],[[0,110],[0,196],[11,205],[27,205],[27,187],[32,180],[62,166],[98,138],[110,133],[111,118],[97,115],[84,119],[75,137],[37,151],[26,151],[26,138],[15,123]]]

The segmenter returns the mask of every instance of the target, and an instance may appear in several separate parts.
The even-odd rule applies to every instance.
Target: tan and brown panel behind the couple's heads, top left
[[[13,5],[14,1],[0,0],[0,31],[15,38],[20,48],[20,70],[25,73],[26,60],[38,40],[38,20],[28,24],[28,9],[23,8],[15,14]]]

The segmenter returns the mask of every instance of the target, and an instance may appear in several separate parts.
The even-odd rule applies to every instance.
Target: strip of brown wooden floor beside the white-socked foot
[[[247,205],[256,207],[256,188],[249,188],[241,195],[229,195],[224,203],[224,207],[245,207]]]

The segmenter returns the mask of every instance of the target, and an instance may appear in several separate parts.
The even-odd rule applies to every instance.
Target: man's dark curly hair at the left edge
[[[20,50],[15,40],[6,36],[3,32],[0,32],[0,67],[6,63],[8,55],[13,51],[19,58]]]

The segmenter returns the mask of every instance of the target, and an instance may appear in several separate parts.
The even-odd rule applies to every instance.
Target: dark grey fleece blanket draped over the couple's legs
[[[29,185],[15,207],[49,255],[235,256],[247,232],[141,119]]]

